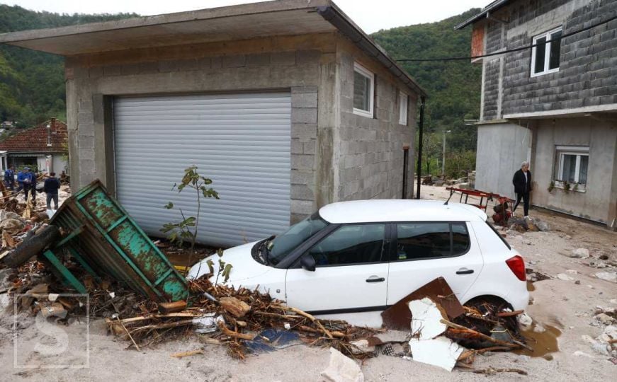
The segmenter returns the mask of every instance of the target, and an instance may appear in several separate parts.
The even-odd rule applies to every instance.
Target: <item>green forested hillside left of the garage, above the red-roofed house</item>
[[[0,4],[0,33],[53,28],[137,16],[34,12]],[[31,126],[50,117],[66,120],[64,59],[54,54],[0,45],[0,122]]]

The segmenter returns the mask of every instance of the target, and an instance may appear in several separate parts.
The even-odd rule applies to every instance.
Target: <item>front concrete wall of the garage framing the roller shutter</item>
[[[291,222],[334,200],[336,35],[270,37],[66,60],[72,180],[114,190],[109,96],[290,89]]]

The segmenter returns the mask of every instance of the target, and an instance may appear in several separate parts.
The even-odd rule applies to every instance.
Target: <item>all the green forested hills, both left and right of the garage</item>
[[[470,28],[454,30],[460,21],[477,13],[472,9],[437,23],[410,25],[380,30],[373,38],[395,59],[468,56]],[[0,4],[0,33],[50,28],[77,23],[92,23],[137,16],[57,14],[28,11],[19,6]],[[475,127],[463,120],[477,119],[480,111],[480,65],[468,60],[451,62],[403,62],[402,66],[429,93],[426,109],[423,172],[433,174],[441,160],[443,131],[447,135],[448,175],[475,167]],[[0,122],[18,121],[31,126],[50,117],[66,120],[64,69],[62,57],[0,45]],[[426,168],[426,165],[431,166]]]

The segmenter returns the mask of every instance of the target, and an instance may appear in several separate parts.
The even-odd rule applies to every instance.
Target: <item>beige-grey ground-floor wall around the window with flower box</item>
[[[589,146],[589,166],[585,192],[563,192],[548,185],[556,178],[555,146]],[[532,202],[612,224],[617,202],[617,119],[562,118],[538,121],[536,156],[533,161]]]

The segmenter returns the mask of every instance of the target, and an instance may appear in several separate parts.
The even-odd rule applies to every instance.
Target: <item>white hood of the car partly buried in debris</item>
[[[216,280],[216,274],[219,268],[219,260],[225,262],[225,265],[231,264],[232,270],[230,272],[230,279],[228,282],[230,284],[237,284],[238,282],[242,282],[247,279],[251,279],[253,277],[258,277],[261,274],[268,272],[271,267],[263,265],[257,262],[251,256],[251,248],[258,243],[257,241],[253,243],[248,243],[244,245],[239,245],[237,247],[233,247],[223,251],[221,257],[216,253],[200,262],[196,263],[191,267],[191,270],[188,272],[189,279],[197,279],[198,277],[203,276],[204,274],[210,273],[210,268],[208,267],[208,260],[212,260],[213,268],[214,268],[214,276],[211,278],[212,282]],[[219,276],[218,282],[222,283],[223,277]]]

